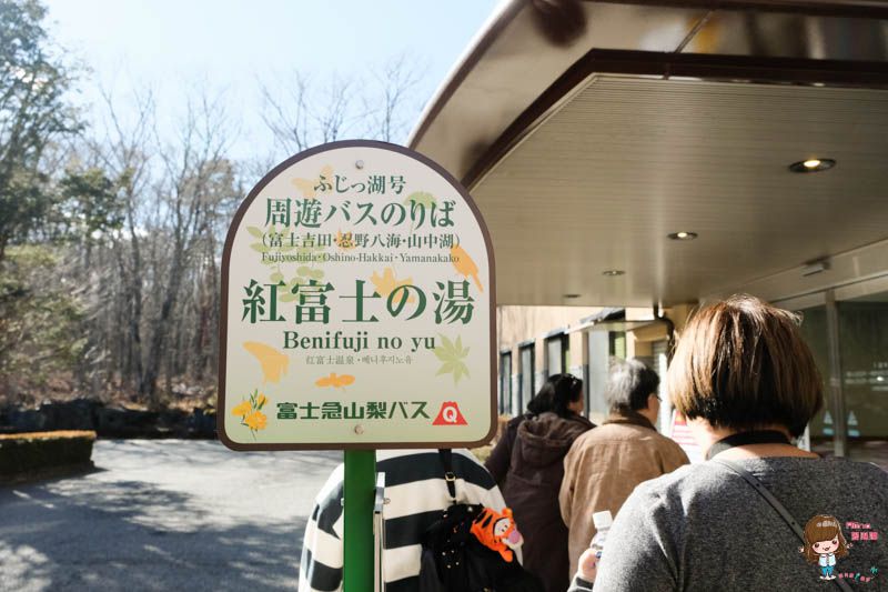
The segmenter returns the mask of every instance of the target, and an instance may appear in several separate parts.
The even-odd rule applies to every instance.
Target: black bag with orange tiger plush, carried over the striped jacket
[[[421,592],[544,592],[542,582],[517,559],[506,561],[471,532],[481,504],[456,502],[456,475],[451,450],[440,451],[453,504],[423,535]]]

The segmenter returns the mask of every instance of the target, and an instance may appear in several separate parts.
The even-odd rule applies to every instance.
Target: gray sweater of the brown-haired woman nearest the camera
[[[835,575],[888,591],[888,473],[845,459],[737,461],[805,528],[836,516],[850,548]],[[875,536],[872,533],[876,533]],[[876,540],[872,540],[872,539]],[[683,466],[635,489],[607,536],[595,592],[838,591],[777,512],[729,469]],[[869,581],[867,581],[869,579]],[[589,590],[574,582],[571,591]]]

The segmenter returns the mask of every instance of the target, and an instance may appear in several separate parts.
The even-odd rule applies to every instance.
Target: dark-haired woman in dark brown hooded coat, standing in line
[[[582,411],[583,381],[551,375],[527,403],[527,413],[508,422],[485,463],[524,536],[524,568],[543,580],[546,592],[564,592],[571,583],[558,492],[565,454],[595,427]]]

